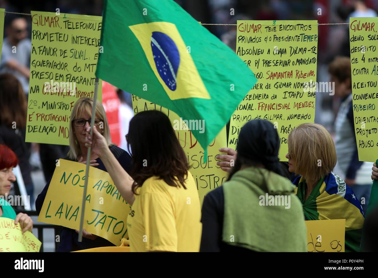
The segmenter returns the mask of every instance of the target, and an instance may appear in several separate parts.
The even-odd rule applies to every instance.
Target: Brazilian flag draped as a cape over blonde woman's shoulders
[[[305,200],[306,180],[299,176],[293,184],[297,186],[305,220],[345,219],[345,252],[358,252],[364,212],[352,188],[331,172],[319,180]]]

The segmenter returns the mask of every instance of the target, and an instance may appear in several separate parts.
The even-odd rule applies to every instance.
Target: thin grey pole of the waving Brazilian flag
[[[93,107],[92,107],[92,117],[91,117],[91,131],[90,137],[92,140],[93,136],[93,127],[95,126],[96,118],[96,101],[97,101],[97,91],[98,91],[98,78],[95,80],[95,95],[93,96]],[[93,143],[93,141],[92,141]],[[82,241],[83,237],[83,224],[84,224],[84,211],[85,211],[85,199],[87,197],[87,186],[88,186],[88,174],[89,174],[89,164],[91,161],[91,146],[87,150],[87,165],[85,167],[85,180],[84,180],[84,191],[83,191],[83,200],[81,203],[81,217],[80,217],[80,229],[79,229],[79,242]]]

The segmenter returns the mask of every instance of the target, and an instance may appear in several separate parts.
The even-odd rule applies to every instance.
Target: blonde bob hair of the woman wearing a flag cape
[[[320,124],[304,123],[288,136],[288,151],[296,165],[296,174],[318,182],[333,171],[336,149],[331,135]]]

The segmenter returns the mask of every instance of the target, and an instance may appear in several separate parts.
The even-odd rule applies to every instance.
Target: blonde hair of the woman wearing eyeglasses
[[[79,142],[76,139],[76,135],[73,133],[74,125],[73,120],[77,119],[79,115],[92,115],[92,107],[93,107],[93,98],[79,98],[71,111],[71,118],[70,118],[70,151],[68,152],[68,157],[73,160],[77,160],[77,157],[81,155],[81,149]],[[101,102],[96,101],[96,118],[101,119],[104,122],[104,128],[102,135],[105,137],[108,146],[112,145],[112,138],[110,137],[110,130],[108,119],[106,118],[106,113],[104,106],[102,106]]]

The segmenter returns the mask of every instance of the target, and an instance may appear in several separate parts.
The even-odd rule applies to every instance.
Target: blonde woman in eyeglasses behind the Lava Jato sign
[[[78,99],[74,107],[72,108],[69,135],[70,151],[68,152],[66,158],[68,160],[81,162],[84,164],[86,163],[88,148],[85,146],[85,137],[86,129],[87,127],[90,127],[91,123],[92,107],[93,98],[84,97]],[[132,166],[132,159],[128,152],[121,148],[118,148],[117,146],[115,146],[115,144],[112,144],[105,110],[99,101],[96,102],[96,118],[94,125],[96,127],[96,130],[98,130],[98,132],[102,134],[102,136],[104,136],[110,151],[116,157],[119,164],[126,172],[129,172]],[[96,153],[96,149],[92,150],[90,166],[97,167],[98,169],[107,172],[104,163],[102,163],[98,155],[95,155]],[[43,191],[37,197],[36,210],[38,213],[40,213],[42,209],[50,181],[51,178],[47,182]],[[65,227],[62,228],[60,241],[61,243],[58,247],[58,252],[71,252],[88,248],[115,246],[110,241],[88,233],[85,230],[83,230],[83,241],[78,242],[78,231]]]

